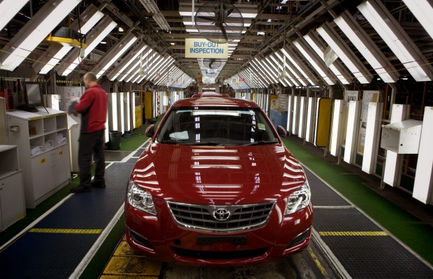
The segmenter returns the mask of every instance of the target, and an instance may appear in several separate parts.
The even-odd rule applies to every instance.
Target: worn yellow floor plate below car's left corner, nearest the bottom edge
[[[103,275],[159,276],[161,267],[161,262],[147,257],[113,256],[105,267]]]

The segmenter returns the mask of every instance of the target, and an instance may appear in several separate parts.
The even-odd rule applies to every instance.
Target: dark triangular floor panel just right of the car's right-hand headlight
[[[339,196],[333,189],[315,176],[311,171],[304,168],[309,185],[311,187],[311,202],[313,206],[350,206],[345,199]]]

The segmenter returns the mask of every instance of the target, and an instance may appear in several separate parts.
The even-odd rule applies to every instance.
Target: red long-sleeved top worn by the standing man
[[[93,85],[82,94],[75,110],[81,114],[81,132],[92,133],[105,129],[108,96],[100,85]]]

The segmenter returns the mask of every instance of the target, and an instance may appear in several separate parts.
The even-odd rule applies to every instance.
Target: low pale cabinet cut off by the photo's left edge
[[[26,215],[22,172],[15,145],[0,145],[0,231]]]

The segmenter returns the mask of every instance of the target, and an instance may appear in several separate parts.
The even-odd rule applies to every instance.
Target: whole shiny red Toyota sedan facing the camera
[[[278,131],[278,133],[277,133]],[[177,101],[135,164],[129,244],[162,262],[256,264],[307,248],[313,208],[302,166],[253,101]]]

